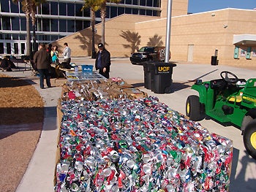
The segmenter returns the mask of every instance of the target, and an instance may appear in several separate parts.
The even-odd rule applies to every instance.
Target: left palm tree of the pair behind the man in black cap
[[[91,38],[91,58],[96,58],[96,51],[95,51],[95,12],[99,10],[100,4],[102,4],[101,0],[83,0],[84,4],[81,9],[90,8],[91,11],[91,33],[92,33],[92,38]]]

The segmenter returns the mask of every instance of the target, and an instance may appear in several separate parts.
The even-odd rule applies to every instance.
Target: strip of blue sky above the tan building
[[[189,0],[188,12],[207,12],[225,8],[254,9],[256,0]]]

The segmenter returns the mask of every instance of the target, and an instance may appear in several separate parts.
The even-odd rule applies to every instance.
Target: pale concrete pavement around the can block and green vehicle
[[[91,58],[72,58],[72,62],[75,64],[94,65],[94,60]],[[222,71],[233,72],[238,78],[245,78],[246,80],[249,77],[255,77],[256,74],[256,70],[240,69],[233,66],[211,66],[210,64],[185,64],[178,62],[177,66],[173,68],[173,93],[156,94],[143,87],[143,66],[130,64],[129,58],[113,58],[110,67],[110,77],[121,77],[136,88],[140,88],[141,91],[148,93],[148,96],[157,96],[159,101],[167,104],[173,110],[184,114],[187,96],[193,93],[190,89],[192,85],[190,80],[197,78],[203,81],[218,79]],[[17,191],[53,191],[56,145],[59,134],[56,122],[56,105],[61,96],[61,87],[39,89],[38,77],[32,77],[30,71],[8,72],[6,74],[36,82],[34,86],[45,101],[45,120],[42,135]],[[230,191],[254,192],[256,189],[256,161],[246,154],[241,131],[233,126],[221,126],[213,120],[202,120],[200,123],[210,132],[233,140],[234,157],[230,178]]]

